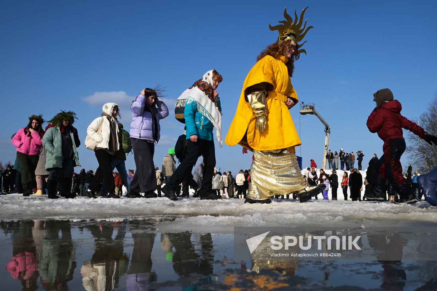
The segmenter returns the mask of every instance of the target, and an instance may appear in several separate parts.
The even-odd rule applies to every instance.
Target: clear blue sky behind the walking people
[[[308,25],[302,54],[291,79],[299,101],[316,104],[331,127],[329,149],[362,150],[364,164],[382,141],[366,121],[372,94],[390,88],[413,119],[426,110],[437,90],[436,1],[2,1],[0,3],[0,161],[15,159],[10,136],[31,114],[50,119],[72,110],[84,142],[90,122],[105,102],[120,104],[129,128],[130,102],[144,87],[167,87],[173,111],[177,97],[208,70],[223,75],[223,139],[232,121],[243,80],[257,55],[275,42],[269,23],[283,10]],[[322,123],[291,110],[300,132],[304,166],[323,156]],[[183,125],[161,122],[155,165],[173,147]],[[95,169],[94,153],[82,145],[80,162]],[[217,166],[236,172],[250,167],[240,146],[216,144]],[[200,159],[199,159],[200,162]],[[407,163],[405,155],[402,163]],[[128,168],[135,168],[129,155]],[[364,167],[366,168],[366,167]],[[76,168],[76,171],[80,168]]]

